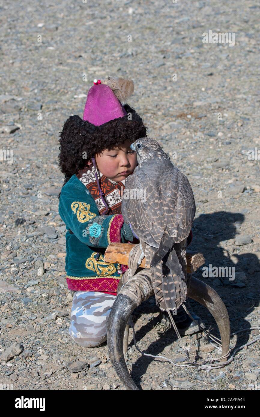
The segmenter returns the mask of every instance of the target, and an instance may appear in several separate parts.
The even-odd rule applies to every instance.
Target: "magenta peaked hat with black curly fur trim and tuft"
[[[102,86],[102,87],[101,87]],[[97,153],[146,137],[147,128],[134,108],[123,101],[134,91],[132,80],[94,80],[88,91],[83,119],[70,116],[60,132],[59,166],[65,183]],[[102,121],[104,121],[102,123]]]

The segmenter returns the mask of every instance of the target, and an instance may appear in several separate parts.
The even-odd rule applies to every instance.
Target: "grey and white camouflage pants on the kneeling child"
[[[71,325],[74,342],[84,347],[96,347],[106,342],[106,327],[115,295],[96,291],[71,291]]]

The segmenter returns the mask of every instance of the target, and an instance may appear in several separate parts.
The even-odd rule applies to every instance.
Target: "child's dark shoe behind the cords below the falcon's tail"
[[[187,304],[186,304],[187,305]],[[187,306],[187,309],[190,311],[191,309]],[[172,311],[171,311],[172,314]],[[205,328],[205,324],[202,322],[202,319],[197,316],[194,312],[190,312],[194,320],[199,323],[200,327],[203,329]],[[170,321],[169,315],[167,311],[161,311],[161,323],[164,324],[167,328],[172,327],[172,322]],[[184,311],[182,306],[179,307],[177,310],[177,314],[172,314],[172,318],[174,319],[174,323],[177,326],[179,334],[181,336],[187,336],[189,334],[194,334],[200,332],[201,329],[199,326],[192,321],[192,319],[188,316],[188,314]]]

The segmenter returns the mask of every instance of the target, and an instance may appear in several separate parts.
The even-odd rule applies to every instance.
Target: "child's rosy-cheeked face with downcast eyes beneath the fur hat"
[[[133,141],[125,141],[120,147],[105,149],[96,155],[96,166],[107,178],[119,182],[128,177],[136,167],[136,151],[130,149]]]

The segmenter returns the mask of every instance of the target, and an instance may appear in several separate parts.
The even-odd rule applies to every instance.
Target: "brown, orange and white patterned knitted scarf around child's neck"
[[[89,193],[94,198],[99,214],[103,214],[106,211],[106,214],[121,214],[121,203],[122,198],[120,196],[121,189],[125,188],[125,179],[120,182],[112,181],[109,178],[106,178],[98,168],[96,168],[97,176],[99,180],[99,185],[101,191],[103,192],[103,198],[105,199],[109,210],[106,211],[106,206],[103,203],[101,196],[99,194],[98,185],[95,176],[94,166],[86,166],[81,169],[77,177],[78,179],[88,188]],[[121,188],[122,187],[122,188]]]

